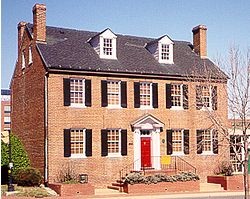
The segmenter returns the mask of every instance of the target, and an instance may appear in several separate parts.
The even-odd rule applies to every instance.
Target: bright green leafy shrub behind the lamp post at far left
[[[20,139],[11,134],[11,158],[13,162],[13,175],[21,168],[26,168],[30,165],[29,157],[24,149],[24,146]],[[1,166],[9,165],[9,145],[1,141]]]

